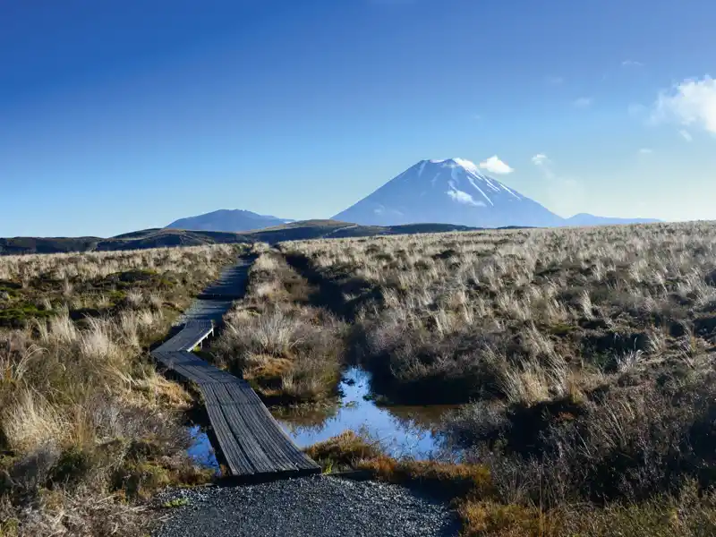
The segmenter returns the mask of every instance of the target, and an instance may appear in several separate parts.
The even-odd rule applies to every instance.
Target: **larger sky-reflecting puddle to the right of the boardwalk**
[[[371,376],[359,368],[345,372],[340,405],[323,412],[276,415],[298,447],[327,440],[345,430],[365,432],[379,439],[392,456],[429,458],[442,447],[442,438],[433,429],[453,405],[384,406],[366,397],[371,395]]]

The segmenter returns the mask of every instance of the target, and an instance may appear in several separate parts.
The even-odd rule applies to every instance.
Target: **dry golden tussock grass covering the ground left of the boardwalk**
[[[188,302],[233,252],[0,258],[13,291],[0,313],[30,300],[47,311],[0,329],[0,534],[142,534],[135,500],[209,479],[185,455],[191,397],[148,348],[175,314],[167,302]]]

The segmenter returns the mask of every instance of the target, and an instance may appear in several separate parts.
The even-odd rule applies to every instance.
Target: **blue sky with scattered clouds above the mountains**
[[[716,218],[714,21],[713,0],[0,0],[0,236],[330,217],[451,157],[498,156],[563,216]]]

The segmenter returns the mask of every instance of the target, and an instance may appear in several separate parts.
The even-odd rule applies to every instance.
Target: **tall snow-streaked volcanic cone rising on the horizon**
[[[463,158],[422,160],[333,218],[367,226],[473,227],[559,226],[564,220]]]

